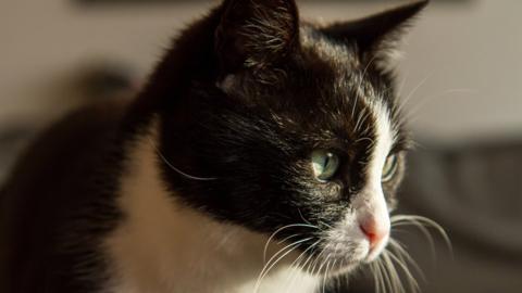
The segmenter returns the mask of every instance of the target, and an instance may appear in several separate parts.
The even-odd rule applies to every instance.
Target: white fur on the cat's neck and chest
[[[124,219],[104,243],[114,280],[109,285],[116,293],[253,292],[266,235],[219,222],[173,196],[160,177],[156,127],[152,123],[127,154],[119,194]],[[269,255],[278,249],[271,245]],[[259,292],[276,292],[271,282],[279,288],[282,281],[306,286],[298,292],[315,286],[316,278],[308,275],[286,280],[291,276],[282,264]]]

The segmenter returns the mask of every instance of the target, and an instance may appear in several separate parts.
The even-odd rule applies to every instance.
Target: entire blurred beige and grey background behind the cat
[[[1,1],[0,182],[53,119],[132,95],[215,2]],[[303,17],[330,21],[403,1],[298,2]],[[422,292],[522,292],[521,11],[518,0],[433,0],[402,47],[400,99],[420,148],[399,212],[435,219],[453,245],[434,232],[432,256],[414,228],[397,234],[426,275]]]

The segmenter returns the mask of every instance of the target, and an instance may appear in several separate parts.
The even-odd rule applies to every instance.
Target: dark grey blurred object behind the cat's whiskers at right
[[[487,142],[414,153],[401,199],[407,214],[448,232],[436,262],[419,233],[403,234],[428,283],[422,292],[522,292],[522,142]]]

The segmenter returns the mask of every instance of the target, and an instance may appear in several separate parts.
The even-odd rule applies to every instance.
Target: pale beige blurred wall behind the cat
[[[175,31],[209,7],[204,1],[182,1],[84,9],[71,2],[0,3],[0,126],[60,112],[69,97],[61,97],[65,93],[57,87],[90,62],[115,59],[145,75]],[[306,16],[330,20],[382,5],[304,1],[301,7]],[[518,0],[432,3],[412,29],[400,66],[402,95],[418,88],[408,107],[422,105],[413,129],[450,141],[522,136],[520,11]]]

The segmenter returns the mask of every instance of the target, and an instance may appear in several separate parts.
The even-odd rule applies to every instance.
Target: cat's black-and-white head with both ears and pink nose
[[[294,0],[226,0],[186,33],[210,36],[212,49],[192,48],[207,52],[204,73],[163,116],[172,188],[339,271],[374,259],[408,146],[386,64],[425,4],[315,25]]]

